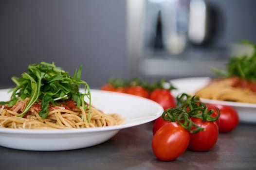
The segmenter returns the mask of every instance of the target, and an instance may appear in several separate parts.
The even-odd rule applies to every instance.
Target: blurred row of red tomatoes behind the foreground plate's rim
[[[175,87],[165,80],[148,83],[138,78],[131,81],[110,78],[108,83],[101,87],[101,90],[128,93],[150,99],[159,103],[164,110],[176,105],[175,98],[171,94],[172,89]]]

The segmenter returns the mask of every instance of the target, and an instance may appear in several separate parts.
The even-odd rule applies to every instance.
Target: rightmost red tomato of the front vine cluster
[[[210,104],[208,104],[210,105]],[[207,105],[207,106],[208,106]],[[219,108],[219,133],[228,133],[234,130],[239,123],[238,112],[231,106],[211,104]]]

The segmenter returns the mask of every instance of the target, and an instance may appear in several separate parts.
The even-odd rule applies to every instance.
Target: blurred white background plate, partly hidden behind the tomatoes
[[[172,85],[177,87],[177,90],[173,90],[172,94],[176,97],[178,94],[187,93],[194,95],[197,90],[207,85],[210,81],[209,77],[192,77],[170,80]],[[209,100],[201,98],[205,103],[216,103],[223,105],[230,105],[238,111],[240,122],[256,123],[256,104],[242,103],[242,102],[225,102],[217,100]]]

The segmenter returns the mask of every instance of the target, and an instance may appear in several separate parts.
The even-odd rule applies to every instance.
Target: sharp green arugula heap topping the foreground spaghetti
[[[73,77],[61,68],[55,67],[55,64],[41,62],[39,64],[29,65],[27,72],[21,74],[21,77],[12,77],[16,87],[11,89],[11,100],[0,102],[12,107],[19,99],[24,100],[29,97],[23,112],[19,117],[23,117],[30,107],[38,100],[41,100],[41,110],[39,116],[45,119],[49,113],[50,103],[56,105],[58,101],[63,102],[67,99],[73,99],[76,106],[82,106],[85,110],[89,109],[88,121],[91,112],[91,92],[89,85],[81,80],[82,66],[78,71],[75,70]],[[79,92],[79,86],[85,85],[85,92]],[[89,99],[89,105],[86,105],[84,97]],[[83,119],[83,117],[82,117]]]

